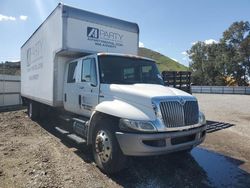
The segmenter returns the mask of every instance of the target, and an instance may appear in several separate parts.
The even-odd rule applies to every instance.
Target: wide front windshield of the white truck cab
[[[160,84],[163,80],[155,62],[123,56],[99,56],[101,83]]]

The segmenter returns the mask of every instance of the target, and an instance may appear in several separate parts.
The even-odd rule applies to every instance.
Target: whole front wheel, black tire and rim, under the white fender
[[[126,156],[123,155],[115,137],[115,125],[107,119],[103,125],[94,130],[92,150],[97,166],[106,174],[113,174],[125,167]]]

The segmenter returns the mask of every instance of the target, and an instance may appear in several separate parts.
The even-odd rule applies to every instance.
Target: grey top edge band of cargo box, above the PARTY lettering
[[[42,25],[53,15],[57,9],[61,8],[63,17],[70,17],[80,20],[85,20],[97,24],[111,26],[113,28],[139,33],[139,26],[137,23],[128,22],[125,20],[112,18],[109,16],[89,12],[76,7],[68,6],[63,3],[58,3],[56,8],[49,14],[49,16],[42,22],[42,24],[32,33],[28,40],[21,46],[21,48],[32,38],[32,36],[42,27]]]

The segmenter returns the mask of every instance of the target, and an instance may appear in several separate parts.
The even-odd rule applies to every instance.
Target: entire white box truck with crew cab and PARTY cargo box
[[[71,126],[56,129],[90,145],[106,173],[128,156],[190,151],[206,134],[196,98],[164,86],[138,41],[135,23],[59,4],[21,47],[29,117],[66,114]]]

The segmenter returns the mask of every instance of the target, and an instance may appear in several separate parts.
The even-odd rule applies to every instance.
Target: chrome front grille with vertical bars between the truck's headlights
[[[166,127],[183,127],[197,124],[199,107],[197,101],[186,101],[182,105],[179,101],[160,103],[160,110]]]

